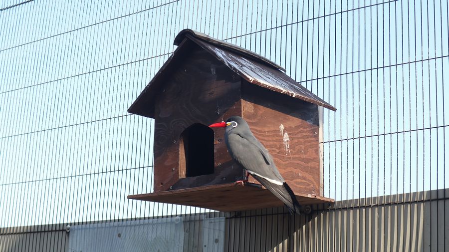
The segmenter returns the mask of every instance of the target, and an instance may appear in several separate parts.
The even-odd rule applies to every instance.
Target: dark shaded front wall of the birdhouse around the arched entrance
[[[156,96],[155,192],[230,183],[242,174],[227,153],[224,129],[216,130],[216,137],[211,140],[214,142],[213,174],[189,177],[183,170],[186,169],[186,139],[183,140],[182,134],[186,129],[241,114],[238,75],[199,47],[194,47],[185,59]],[[195,141],[195,136],[188,141]]]

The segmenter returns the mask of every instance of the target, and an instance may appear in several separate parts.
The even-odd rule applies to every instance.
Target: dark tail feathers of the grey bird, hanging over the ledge
[[[279,200],[281,200],[288,209],[290,214],[298,214],[300,205],[296,200],[296,196],[291,190],[291,188],[287,185],[287,183],[283,183],[282,185],[277,185],[269,182],[268,180],[261,178],[257,175],[252,175],[257,181],[260,182],[266,189],[268,189],[274,196],[276,196]]]

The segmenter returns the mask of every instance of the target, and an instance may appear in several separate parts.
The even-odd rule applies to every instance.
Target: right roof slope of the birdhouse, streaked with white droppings
[[[252,58],[219,48],[212,43],[193,37],[191,39],[250,83],[326,107],[333,111],[337,110],[281,71],[267,67],[265,64],[261,64]]]

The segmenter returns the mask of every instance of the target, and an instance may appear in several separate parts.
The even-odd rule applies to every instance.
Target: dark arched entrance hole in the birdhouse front
[[[214,130],[195,123],[181,133],[179,177],[214,173]]]

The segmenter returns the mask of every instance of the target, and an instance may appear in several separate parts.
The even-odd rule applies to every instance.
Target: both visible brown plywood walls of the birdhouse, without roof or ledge
[[[295,193],[322,195],[317,105],[252,85],[200,47],[167,78],[155,104],[155,192],[241,179],[223,128],[215,129],[214,174],[185,178],[180,171],[185,168],[180,135],[187,127],[241,115]]]

